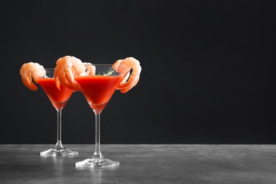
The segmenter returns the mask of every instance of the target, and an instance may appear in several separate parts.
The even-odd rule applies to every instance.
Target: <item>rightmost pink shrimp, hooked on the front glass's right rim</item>
[[[130,67],[132,68],[131,75],[129,71]],[[120,90],[121,93],[127,93],[127,91],[130,91],[131,88],[137,85],[140,78],[140,73],[142,71],[140,62],[137,59],[134,59],[134,57],[127,57],[125,59],[117,60],[117,62],[113,64],[113,69],[123,74],[128,72],[127,76],[122,80],[121,84],[117,86],[117,89]],[[128,78],[129,76],[130,78]]]

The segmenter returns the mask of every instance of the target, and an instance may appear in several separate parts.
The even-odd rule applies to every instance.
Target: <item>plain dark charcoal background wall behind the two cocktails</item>
[[[272,1],[1,1],[0,144],[55,144],[57,116],[25,62],[134,57],[140,81],[115,91],[101,144],[275,144]],[[93,144],[94,115],[73,93],[63,144]]]

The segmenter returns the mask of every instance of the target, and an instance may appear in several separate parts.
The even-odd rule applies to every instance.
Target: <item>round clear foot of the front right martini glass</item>
[[[110,168],[119,166],[119,161],[111,161],[110,159],[86,159],[76,162],[77,168]]]

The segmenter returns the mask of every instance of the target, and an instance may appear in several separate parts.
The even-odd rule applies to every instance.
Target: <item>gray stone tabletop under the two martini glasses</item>
[[[50,144],[0,144],[0,183],[276,183],[275,145],[102,144],[116,168],[75,167],[94,145],[69,144],[74,157],[40,157]]]

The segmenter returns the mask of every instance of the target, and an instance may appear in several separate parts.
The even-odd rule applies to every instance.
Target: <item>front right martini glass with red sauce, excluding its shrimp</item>
[[[93,64],[96,74],[89,76],[75,76],[75,81],[81,86],[88,105],[93,110],[96,120],[96,144],[95,152],[91,158],[76,162],[77,168],[108,168],[119,166],[119,161],[106,159],[100,152],[100,113],[105,109],[108,101],[113,96],[116,86],[120,84],[125,74],[113,70],[113,64]]]

